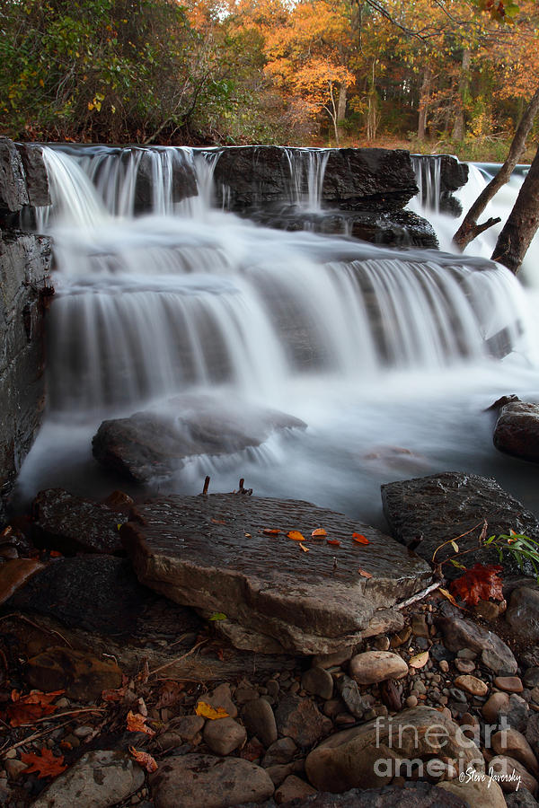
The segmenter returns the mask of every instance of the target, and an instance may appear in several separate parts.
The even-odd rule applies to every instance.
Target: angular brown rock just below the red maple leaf
[[[481,654],[482,663],[495,673],[517,672],[517,660],[511,649],[493,631],[488,631],[470,620],[458,617],[446,609],[448,617],[439,617],[437,625],[442,629],[444,642],[450,651],[469,648]]]

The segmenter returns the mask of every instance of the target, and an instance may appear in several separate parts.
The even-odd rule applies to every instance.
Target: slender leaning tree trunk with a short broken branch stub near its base
[[[487,230],[492,224],[499,222],[499,219],[489,219],[484,224],[477,224],[477,220],[482,215],[483,210],[489,204],[490,199],[496,192],[505,185],[517,162],[522,157],[526,148],[526,137],[534,123],[535,115],[539,110],[539,87],[535,90],[535,95],[527,105],[526,111],[518,124],[517,131],[513,137],[506,162],[502,165],[495,177],[482,189],[481,194],[473,203],[468,213],[453,237],[453,242],[461,250],[464,250],[476,235]]]

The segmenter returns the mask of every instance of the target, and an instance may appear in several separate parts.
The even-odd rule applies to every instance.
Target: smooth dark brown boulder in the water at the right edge
[[[539,462],[539,404],[514,401],[499,412],[493,441],[499,452]]]

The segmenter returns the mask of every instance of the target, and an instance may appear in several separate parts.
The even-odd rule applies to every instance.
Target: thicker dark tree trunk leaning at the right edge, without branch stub
[[[539,148],[526,174],[513,210],[499,233],[492,260],[498,261],[517,275],[526,250],[539,226]]]

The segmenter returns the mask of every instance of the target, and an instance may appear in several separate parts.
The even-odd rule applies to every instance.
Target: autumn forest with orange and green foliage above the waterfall
[[[0,131],[19,140],[384,145],[503,162],[538,86],[535,0],[0,7]]]

